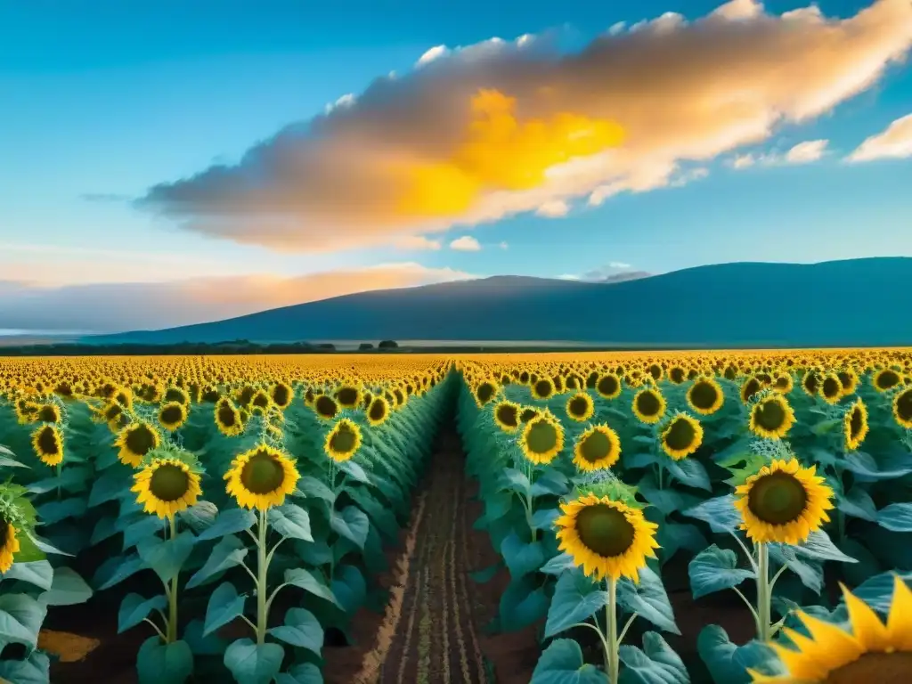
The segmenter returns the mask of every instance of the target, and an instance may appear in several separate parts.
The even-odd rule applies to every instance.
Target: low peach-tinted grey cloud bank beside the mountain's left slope
[[[237,275],[167,283],[38,287],[0,281],[0,321],[5,328],[26,330],[160,329],[355,292],[471,277],[450,268],[402,263],[293,277]]]

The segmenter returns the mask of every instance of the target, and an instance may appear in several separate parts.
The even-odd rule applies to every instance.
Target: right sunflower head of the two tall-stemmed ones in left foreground
[[[239,506],[265,511],[285,503],[285,496],[295,491],[300,475],[295,463],[285,453],[260,444],[234,458],[224,474],[225,491]]]

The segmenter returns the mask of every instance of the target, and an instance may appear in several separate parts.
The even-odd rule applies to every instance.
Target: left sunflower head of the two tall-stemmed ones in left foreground
[[[200,476],[186,463],[176,458],[152,458],[140,472],[133,475],[136,503],[141,503],[146,513],[160,518],[173,518],[185,511],[202,494]]]

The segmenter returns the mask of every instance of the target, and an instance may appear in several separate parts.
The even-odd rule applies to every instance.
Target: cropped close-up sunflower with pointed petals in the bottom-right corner
[[[748,670],[764,684],[905,684],[912,671],[912,590],[893,575],[893,600],[886,624],[860,598],[840,585],[851,634],[831,622],[798,610],[809,637],[785,627],[796,648],[771,642],[789,674],[767,676]]]

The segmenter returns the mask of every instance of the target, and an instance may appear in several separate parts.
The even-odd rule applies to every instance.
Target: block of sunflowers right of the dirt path
[[[910,680],[912,352],[456,366],[476,528],[511,578],[493,627],[540,626],[533,684]],[[751,640],[676,615],[718,592]]]

